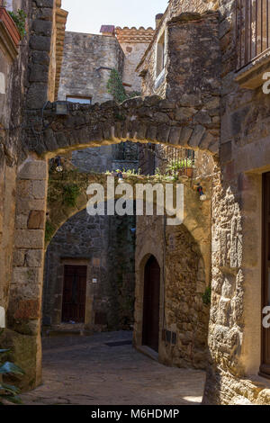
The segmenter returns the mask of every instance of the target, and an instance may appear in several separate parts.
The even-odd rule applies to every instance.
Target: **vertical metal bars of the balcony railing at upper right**
[[[270,48],[270,0],[237,0],[238,70]]]

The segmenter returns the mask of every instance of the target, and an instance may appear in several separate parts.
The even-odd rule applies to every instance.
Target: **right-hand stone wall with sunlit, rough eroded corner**
[[[212,369],[205,402],[269,403],[261,363],[262,173],[270,170],[269,95],[236,82],[235,2],[220,2],[221,177],[213,199]],[[242,71],[245,75],[245,69]],[[262,85],[263,81],[261,81]]]

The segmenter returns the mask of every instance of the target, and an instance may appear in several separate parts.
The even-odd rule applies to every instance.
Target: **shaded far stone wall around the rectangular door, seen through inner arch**
[[[43,324],[62,323],[64,265],[87,266],[86,330],[130,329],[134,302],[134,218],[80,211],[49,243],[43,288]],[[97,283],[93,283],[93,279]]]

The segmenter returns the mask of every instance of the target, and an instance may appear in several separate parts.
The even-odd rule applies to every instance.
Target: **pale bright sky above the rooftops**
[[[151,26],[156,14],[166,11],[168,0],[62,0],[69,12],[67,31],[99,33],[103,24],[115,26]]]

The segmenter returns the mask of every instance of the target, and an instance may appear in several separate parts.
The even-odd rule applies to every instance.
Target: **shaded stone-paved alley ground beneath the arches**
[[[160,365],[136,351],[130,332],[45,338],[43,384],[22,395],[24,404],[197,405],[205,374]]]

